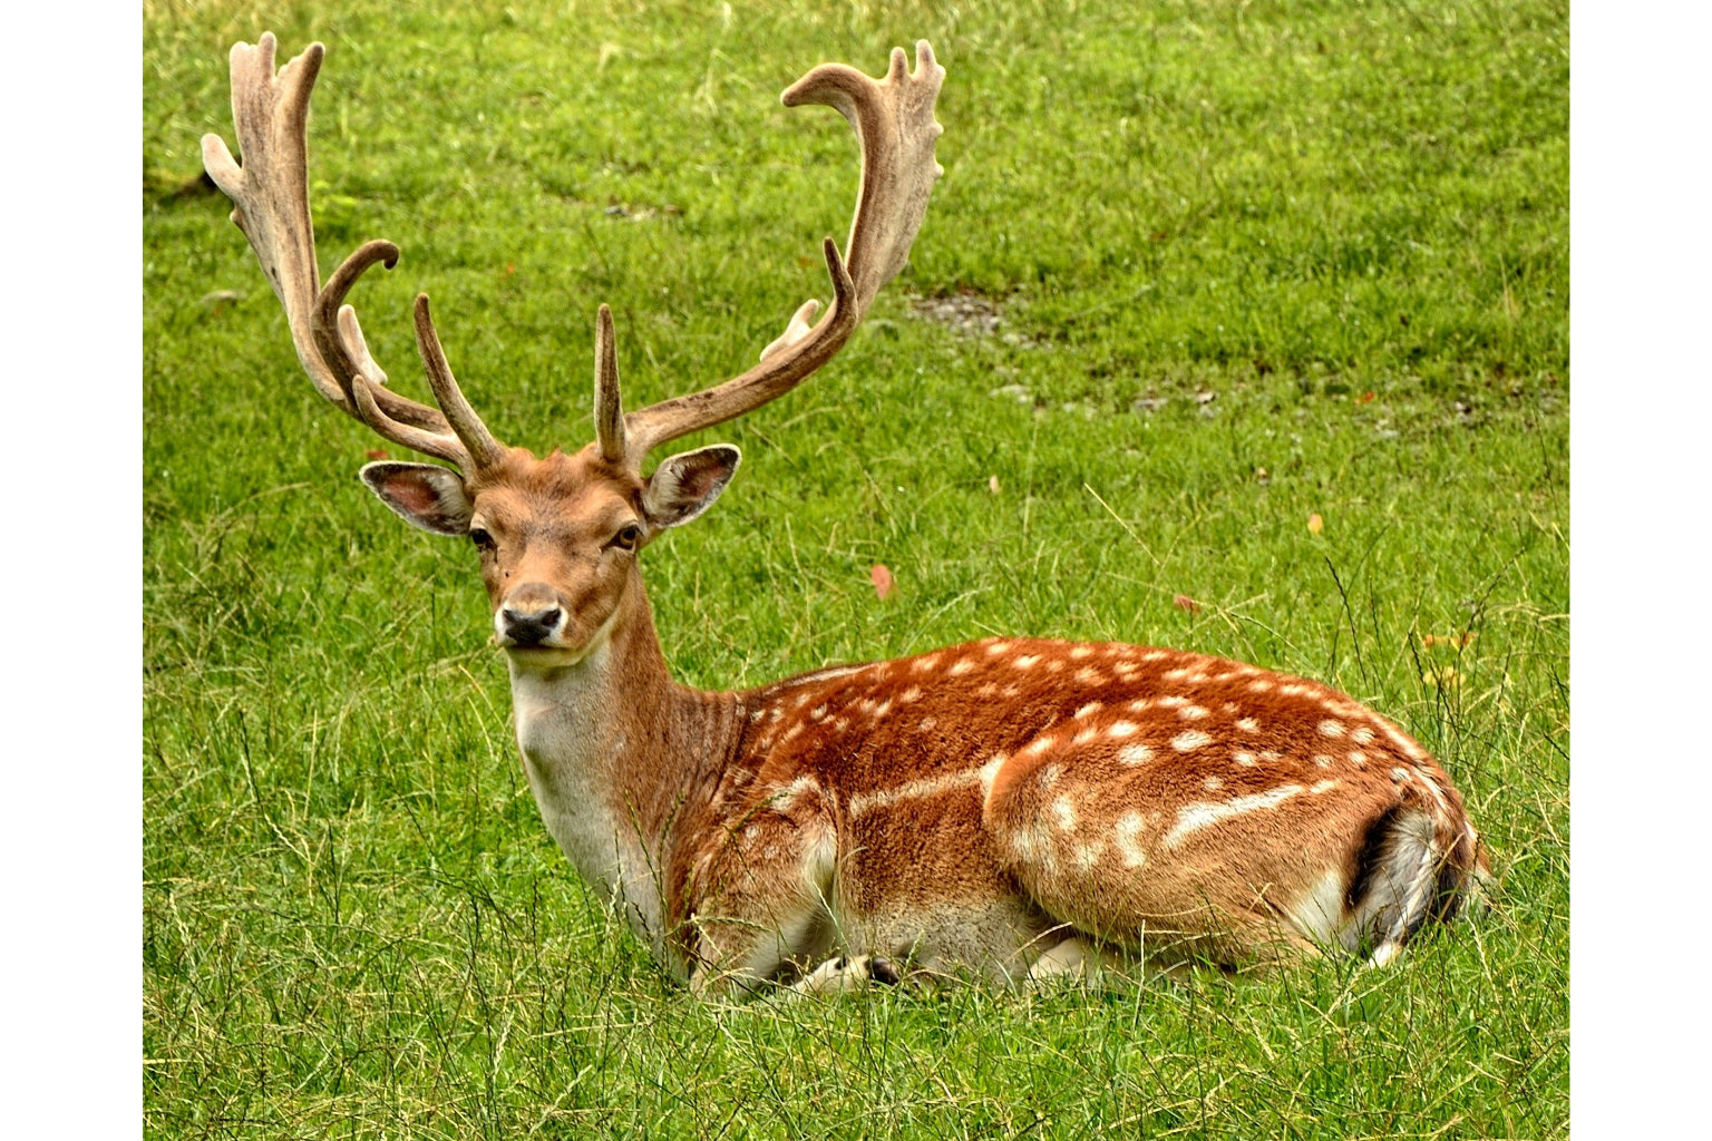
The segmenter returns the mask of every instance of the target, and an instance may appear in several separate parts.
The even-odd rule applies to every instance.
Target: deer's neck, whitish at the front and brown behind
[[[671,681],[640,575],[580,662],[508,664],[517,744],[548,831],[669,961],[668,845],[736,746],[734,695]]]

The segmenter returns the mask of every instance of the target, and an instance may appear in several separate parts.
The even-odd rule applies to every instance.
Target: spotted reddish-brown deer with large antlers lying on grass
[[[1383,967],[1489,878],[1430,753],[1344,693],[1147,645],[986,638],[743,691],[671,677],[642,551],[712,506],[740,462],[716,443],[644,462],[825,366],[904,267],[943,169],[926,41],[882,79],[823,63],[782,94],[859,147],[832,301],[810,299],[748,371],[625,411],[613,315],[594,337],[594,440],[538,458],[466,400],[428,296],[414,334],[437,407],[395,393],[353,306],[399,258],[368,241],[322,284],[308,103],[325,48],[276,72],[231,50],[233,200],[310,381],[383,440],[361,481],[407,523],[474,547],[541,818],[580,879],[692,992],[837,994],[912,978],[1032,985],[1103,967]],[[817,320],[818,315],[818,320]]]

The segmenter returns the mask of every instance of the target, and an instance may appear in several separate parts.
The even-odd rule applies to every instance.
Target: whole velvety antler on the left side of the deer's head
[[[231,221],[250,239],[274,296],[286,310],[298,361],[327,400],[392,443],[455,464],[466,472],[493,464],[503,452],[464,400],[428,316],[426,294],[416,298],[416,347],[428,385],[443,412],[387,388],[387,375],[368,352],[356,310],[344,296],[377,262],[397,263],[390,241],[368,241],[320,286],[315,226],[308,200],[306,121],[310,94],[325,48],[312,43],[274,74],[274,34],[231,48],[231,116],[240,166],[219,135],[202,137],[202,166],[233,200]]]

